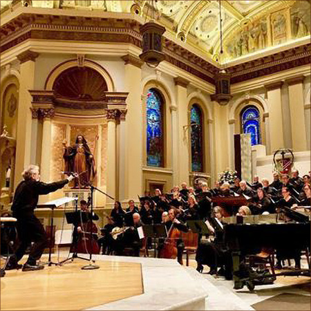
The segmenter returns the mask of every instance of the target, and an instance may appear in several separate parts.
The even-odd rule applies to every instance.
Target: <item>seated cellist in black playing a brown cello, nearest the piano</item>
[[[158,257],[168,258],[166,253],[170,253],[171,249],[166,249],[167,247],[177,248],[177,261],[182,265],[182,252],[185,249],[185,243],[180,237],[180,232],[188,232],[187,226],[182,223],[182,221],[176,218],[178,211],[176,208],[169,209],[169,220],[164,222],[165,227],[167,227],[168,236],[164,241],[159,241],[158,245]],[[166,252],[166,251],[169,252]],[[176,257],[175,257],[176,258]]]

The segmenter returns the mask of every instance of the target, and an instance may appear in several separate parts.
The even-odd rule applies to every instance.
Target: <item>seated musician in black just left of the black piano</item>
[[[217,220],[215,220],[215,218]],[[203,271],[203,265],[210,267],[209,274],[223,274],[227,280],[232,279],[232,256],[229,249],[225,246],[223,240],[223,209],[219,206],[214,207],[213,215],[205,223],[211,234],[214,235],[214,241],[201,241],[196,252],[196,270]],[[221,223],[221,225],[218,225]],[[218,267],[220,270],[217,271]]]

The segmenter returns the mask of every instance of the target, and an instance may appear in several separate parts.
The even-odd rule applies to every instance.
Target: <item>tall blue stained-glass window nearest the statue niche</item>
[[[147,165],[163,166],[163,97],[155,88],[147,93]]]

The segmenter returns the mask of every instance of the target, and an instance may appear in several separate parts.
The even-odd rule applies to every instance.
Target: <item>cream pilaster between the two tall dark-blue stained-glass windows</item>
[[[191,172],[191,147],[190,147],[190,131],[189,127],[189,107],[187,102],[187,86],[189,82],[181,77],[174,78],[176,85],[176,102],[178,105],[178,135],[179,135],[179,160],[178,160],[178,171],[179,181],[189,183],[189,172]]]

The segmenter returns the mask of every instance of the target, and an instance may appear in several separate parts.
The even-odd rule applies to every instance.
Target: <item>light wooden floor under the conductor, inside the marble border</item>
[[[83,310],[143,293],[140,263],[97,261],[81,270],[75,259],[37,272],[7,271],[1,278],[1,310]]]

